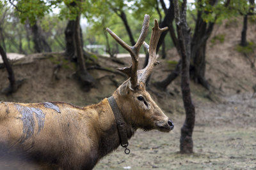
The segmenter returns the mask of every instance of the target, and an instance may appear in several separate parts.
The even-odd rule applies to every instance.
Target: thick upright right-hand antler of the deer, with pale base
[[[148,64],[144,69],[141,69],[138,71],[138,80],[146,82],[148,76],[154,69],[154,66],[158,64],[156,60],[156,47],[157,43],[159,41],[159,38],[162,34],[162,32],[166,31],[168,27],[164,27],[163,29],[159,28],[158,22],[155,19],[155,25],[152,28],[152,34],[150,38],[150,43],[149,43],[149,58],[148,58]],[[147,48],[147,43],[144,43],[144,46]]]

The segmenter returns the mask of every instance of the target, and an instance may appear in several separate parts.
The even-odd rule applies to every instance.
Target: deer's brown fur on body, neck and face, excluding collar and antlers
[[[168,118],[146,92],[144,83],[134,90],[125,86],[127,83],[113,96],[127,123],[128,138],[138,128],[159,129],[157,124],[167,124]],[[125,89],[126,95],[120,95],[120,89]],[[143,96],[147,105],[143,106],[138,96]],[[52,104],[60,113],[44,103],[0,103],[0,149],[21,150],[29,157],[58,164],[62,169],[92,169],[120,145],[107,99],[84,108],[68,103]],[[170,131],[166,127],[159,130]]]

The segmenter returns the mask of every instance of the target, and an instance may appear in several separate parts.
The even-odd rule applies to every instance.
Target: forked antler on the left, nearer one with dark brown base
[[[125,43],[121,38],[119,38],[111,29],[106,28],[106,31],[111,34],[111,36],[122,46],[127,50],[132,57],[132,66],[130,67],[123,67],[119,68],[119,71],[122,71],[123,73],[127,74],[129,77],[131,77],[131,85],[132,87],[136,87],[138,85],[138,62],[139,62],[139,52],[140,52],[140,47],[143,44],[143,41],[146,39],[147,36],[147,31],[149,27],[149,15],[145,15],[144,20],[143,20],[143,25],[141,29],[141,34],[140,37],[137,41],[137,43],[134,46],[129,46],[127,43]]]

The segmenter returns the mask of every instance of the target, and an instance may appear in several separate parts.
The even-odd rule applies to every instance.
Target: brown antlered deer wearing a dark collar
[[[127,45],[111,29],[106,31],[131,54],[130,67],[120,68],[129,78],[111,97],[98,104],[78,107],[63,102],[0,102],[0,158],[17,152],[36,161],[56,164],[59,169],[93,169],[102,157],[127,148],[137,129],[173,130],[173,121],[146,91],[145,82],[156,66],[156,46],[163,31],[155,19],[150,44],[145,43],[149,15],[145,15],[140,37]],[[148,65],[138,70],[141,45],[149,53]]]

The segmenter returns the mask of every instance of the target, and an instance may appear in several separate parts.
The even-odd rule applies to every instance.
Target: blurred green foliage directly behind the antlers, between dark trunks
[[[153,1],[151,1],[153,2]],[[103,44],[106,45],[106,27],[109,27],[113,32],[115,32],[121,39],[123,39],[127,44],[131,45],[129,36],[124,26],[124,22],[120,19],[118,15],[121,14],[121,11],[124,11],[127,17],[127,22],[131,27],[132,34],[134,39],[138,39],[141,32],[141,25],[143,22],[143,18],[146,11],[140,11],[140,13],[134,9],[134,4],[136,1],[95,1],[95,0],[88,0],[87,11],[84,13],[86,18],[88,19],[88,23],[90,24],[86,30],[86,44]],[[147,3],[147,1],[144,1]],[[106,8],[108,6],[108,8]],[[137,8],[137,7],[136,7]],[[146,8],[145,8],[146,9]],[[134,11],[131,13],[131,10]],[[152,13],[152,12],[151,12]],[[135,15],[136,14],[136,15]],[[156,16],[156,15],[155,15]],[[155,18],[154,16],[150,16],[151,18]],[[150,25],[154,24],[154,20],[150,20]],[[149,43],[150,40],[150,31],[148,31],[148,36],[146,41]],[[109,44],[111,48],[114,48],[116,45],[116,41],[111,38],[109,34],[107,34],[109,39]],[[119,46],[119,52],[123,53],[126,51]],[[141,48],[141,52],[143,53],[143,49]]]

